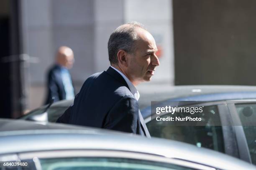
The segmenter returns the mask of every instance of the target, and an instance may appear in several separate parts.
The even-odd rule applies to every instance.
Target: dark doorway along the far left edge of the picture
[[[18,0],[0,1],[0,117],[15,118],[21,114],[21,88]]]

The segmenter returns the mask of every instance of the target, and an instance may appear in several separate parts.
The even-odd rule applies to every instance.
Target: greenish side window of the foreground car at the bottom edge
[[[127,158],[51,158],[40,159],[42,170],[195,170],[146,160]]]

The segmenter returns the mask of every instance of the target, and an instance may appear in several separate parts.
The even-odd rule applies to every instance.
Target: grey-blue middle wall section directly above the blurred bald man
[[[53,45],[74,50],[74,68],[70,70],[75,82],[94,73],[94,0],[52,0]]]

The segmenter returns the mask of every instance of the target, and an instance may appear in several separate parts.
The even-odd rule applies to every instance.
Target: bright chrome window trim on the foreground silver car
[[[159,155],[152,155],[146,153],[136,153],[120,150],[50,150],[39,151],[30,153],[19,153],[20,160],[40,160],[42,158],[124,158],[124,159],[136,159],[146,160],[159,163],[167,163],[178,165],[186,168],[195,168],[197,170],[215,170],[213,167],[202,165],[200,163],[194,163],[187,160],[180,160],[175,158],[166,158]],[[36,164],[36,163],[35,163]],[[37,163],[37,169],[40,166]]]

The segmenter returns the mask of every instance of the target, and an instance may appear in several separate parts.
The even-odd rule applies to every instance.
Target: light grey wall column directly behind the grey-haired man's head
[[[108,69],[108,39],[124,23],[124,0],[95,0],[95,72]],[[107,8],[106,8],[107,7]]]

